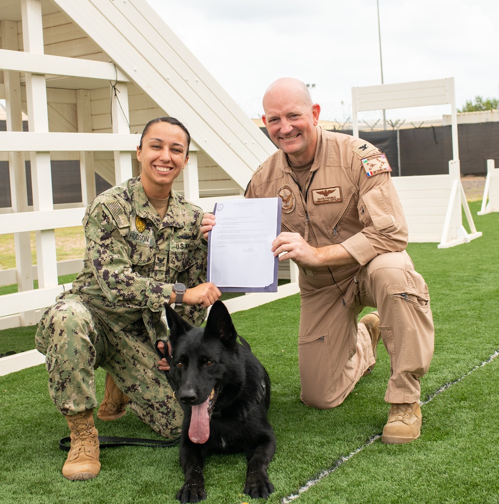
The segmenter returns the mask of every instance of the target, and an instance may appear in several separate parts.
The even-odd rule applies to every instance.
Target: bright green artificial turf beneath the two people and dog
[[[419,439],[402,446],[376,440],[304,492],[296,499],[298,504],[499,502],[499,358],[467,375],[499,348],[498,214],[476,216],[479,203],[470,208],[482,237],[449,249],[438,249],[435,243],[411,244],[408,249],[429,284],[436,328],[435,356],[421,382],[421,399],[465,377],[422,406]],[[296,493],[322,470],[380,434],[388,413],[383,397],[389,358],[382,345],[373,373],[355,386],[341,406],[324,411],[300,403],[299,304],[299,296],[294,295],[233,314],[236,328],[272,382],[269,417],[277,450],[269,467],[275,486],[270,504]],[[99,397],[103,382],[104,372],[98,369]],[[65,453],[57,449],[57,441],[68,431],[50,403],[46,384],[42,365],[0,376],[2,504],[176,502],[183,481],[177,447],[103,450],[97,478],[65,480],[60,473]],[[131,412],[113,422],[96,419],[96,425],[101,435],[159,437]],[[243,455],[209,457],[207,502],[250,502],[242,493],[244,478]]]

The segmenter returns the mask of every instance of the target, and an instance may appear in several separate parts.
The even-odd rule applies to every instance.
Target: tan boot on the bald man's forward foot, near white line
[[[419,402],[392,404],[388,422],[383,428],[381,441],[387,444],[410,443],[421,434],[421,408]]]

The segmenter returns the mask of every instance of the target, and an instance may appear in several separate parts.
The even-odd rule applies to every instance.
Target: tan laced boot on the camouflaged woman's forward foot
[[[101,469],[99,462],[99,433],[94,426],[94,410],[67,415],[71,431],[71,447],[62,474],[72,481],[95,478]]]

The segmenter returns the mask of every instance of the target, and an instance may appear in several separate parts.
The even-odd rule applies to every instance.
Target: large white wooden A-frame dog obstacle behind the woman
[[[7,117],[0,161],[9,161],[12,201],[12,208],[0,209],[0,234],[15,235],[16,270],[7,275],[19,287],[2,296],[0,329],[36,324],[40,311],[69,287],[58,276],[79,271],[81,261],[72,271],[57,262],[54,230],[81,226],[96,174],[111,185],[138,174],[137,132],[151,118],[178,117],[189,129],[188,168],[174,188],[205,210],[242,198],[254,169],[275,151],[147,0],[0,2],[0,99]],[[51,162],[58,160],[80,162],[81,203],[54,204]],[[234,305],[246,309],[295,292],[294,281]]]

